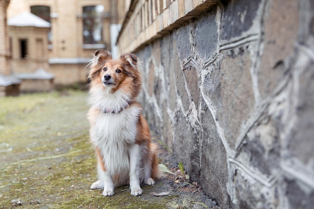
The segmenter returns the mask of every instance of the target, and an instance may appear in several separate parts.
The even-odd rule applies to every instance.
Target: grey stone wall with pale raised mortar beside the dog
[[[314,205],[313,11],[218,3],[133,49],[150,128],[221,208]]]

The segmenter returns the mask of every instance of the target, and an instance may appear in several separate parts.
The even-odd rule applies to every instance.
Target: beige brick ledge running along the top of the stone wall
[[[167,7],[158,1],[134,0],[130,4],[117,38],[119,51],[136,52],[153,40],[186,24],[192,18],[209,11],[219,2],[221,1],[175,0]]]

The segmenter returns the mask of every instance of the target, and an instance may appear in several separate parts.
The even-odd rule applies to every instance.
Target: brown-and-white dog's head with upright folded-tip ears
[[[102,85],[112,92],[121,89],[136,97],[141,85],[137,61],[134,54],[122,54],[118,60],[113,60],[109,52],[97,50],[89,64],[91,86]]]

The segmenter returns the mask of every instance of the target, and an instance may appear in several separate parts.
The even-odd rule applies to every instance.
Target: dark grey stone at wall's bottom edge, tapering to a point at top
[[[217,133],[215,119],[203,99],[200,105],[202,131],[198,132],[197,150],[191,154],[194,159],[191,176],[202,184],[203,191],[221,208],[229,208],[227,153]]]

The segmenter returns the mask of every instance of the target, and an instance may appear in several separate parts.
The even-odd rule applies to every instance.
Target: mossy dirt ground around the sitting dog
[[[141,196],[128,186],[111,197],[91,190],[86,97],[69,90],[0,98],[0,208],[219,208],[158,139],[165,177],[142,186]]]

